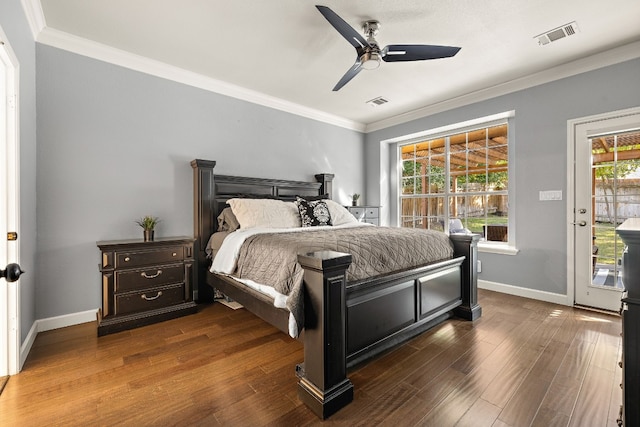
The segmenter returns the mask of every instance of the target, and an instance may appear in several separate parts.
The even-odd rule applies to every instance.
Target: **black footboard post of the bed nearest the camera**
[[[296,367],[298,397],[325,419],[353,400],[347,378],[346,271],[351,255],[298,255],[304,268],[304,363]]]

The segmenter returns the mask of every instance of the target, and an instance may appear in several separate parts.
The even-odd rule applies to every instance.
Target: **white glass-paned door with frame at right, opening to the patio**
[[[617,311],[624,245],[615,228],[640,216],[640,110],[574,121],[571,130],[574,302]]]

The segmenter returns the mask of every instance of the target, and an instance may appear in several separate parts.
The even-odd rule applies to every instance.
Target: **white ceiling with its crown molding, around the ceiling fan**
[[[430,106],[444,109],[452,99],[495,92],[541,72],[547,80],[571,74],[574,65],[579,72],[584,58],[607,65],[640,56],[638,0],[26,3],[39,42],[101,59],[119,58],[112,62],[125,65],[137,62],[129,65],[141,70],[148,58],[153,61],[147,65],[156,69],[167,65],[171,71],[164,75],[169,78],[184,71],[202,87],[361,129],[384,127]],[[365,20],[380,21],[381,47],[437,44],[462,49],[452,58],[382,63],[333,92],[354,63],[355,50],[315,4],[330,7],[358,31]],[[580,30],[574,36],[546,46],[534,39],[572,21]],[[366,104],[379,96],[389,103]]]

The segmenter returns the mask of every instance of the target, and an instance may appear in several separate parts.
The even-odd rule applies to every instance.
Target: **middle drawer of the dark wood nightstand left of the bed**
[[[116,271],[116,293],[143,290],[184,281],[184,264]]]

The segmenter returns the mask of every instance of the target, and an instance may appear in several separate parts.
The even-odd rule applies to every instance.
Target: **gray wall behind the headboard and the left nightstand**
[[[97,240],[193,235],[195,158],[219,174],[364,187],[361,133],[37,45],[37,318],[100,307]]]

